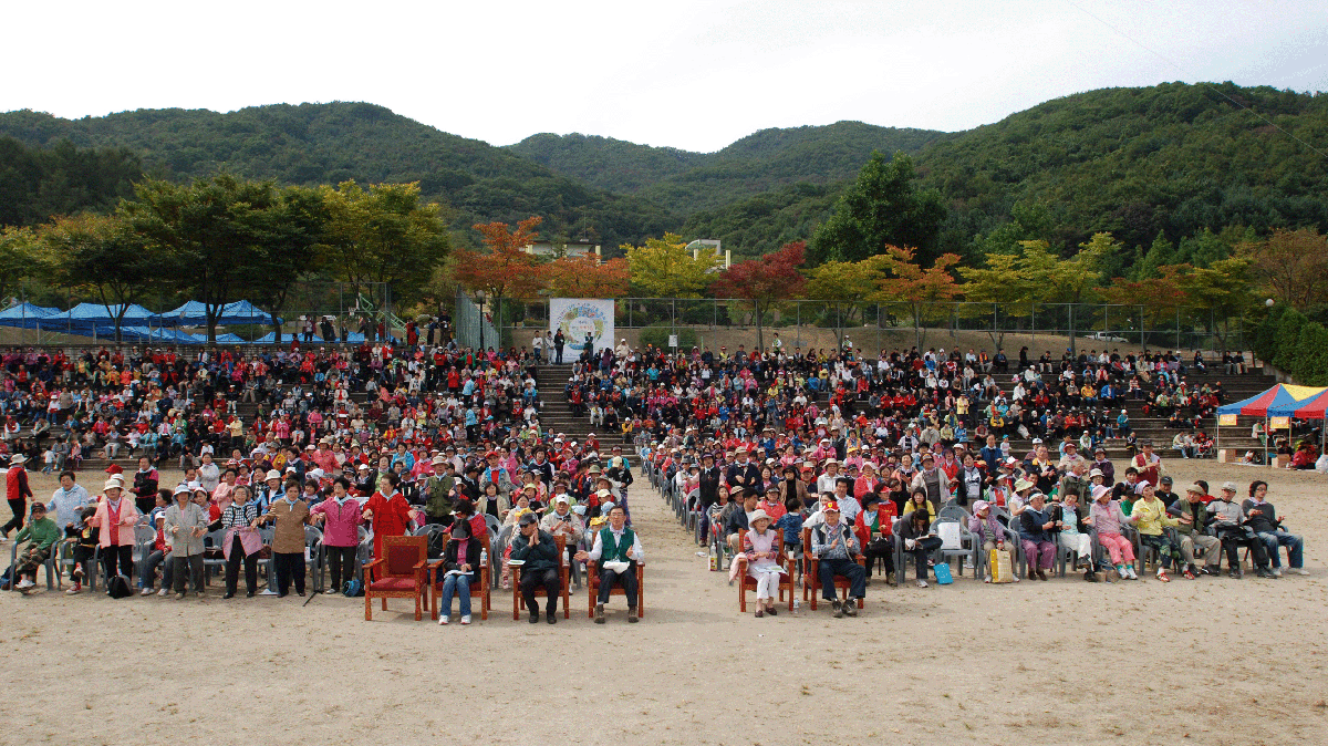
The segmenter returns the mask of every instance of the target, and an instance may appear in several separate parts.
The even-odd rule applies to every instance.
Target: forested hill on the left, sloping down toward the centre
[[[0,135],[31,146],[124,146],[150,174],[170,179],[219,170],[291,185],[345,179],[414,182],[454,211],[454,226],[544,218],[550,238],[586,238],[616,247],[672,226],[665,211],[636,196],[595,190],[477,139],[438,131],[371,104],[255,106],[219,114],[157,109],[60,119],[0,113]]]

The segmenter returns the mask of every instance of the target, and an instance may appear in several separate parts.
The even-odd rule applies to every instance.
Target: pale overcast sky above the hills
[[[579,131],[709,151],[839,119],[961,130],[1048,98],[1175,80],[1325,90],[1325,11],[1323,0],[9,3],[0,110],[369,101],[494,145]]]

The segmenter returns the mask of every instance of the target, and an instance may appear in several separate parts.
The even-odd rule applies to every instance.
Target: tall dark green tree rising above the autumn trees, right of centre
[[[912,158],[896,153],[891,161],[879,151],[858,173],[835,202],[834,215],[811,238],[810,259],[861,261],[891,246],[916,247],[916,261],[930,265],[946,208],[940,194],[918,188]]]

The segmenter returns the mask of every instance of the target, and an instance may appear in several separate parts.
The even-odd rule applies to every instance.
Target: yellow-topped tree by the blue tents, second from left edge
[[[129,305],[155,285],[157,258],[120,216],[57,218],[41,228],[44,264],[56,285],[93,291],[114,319],[116,341]]]

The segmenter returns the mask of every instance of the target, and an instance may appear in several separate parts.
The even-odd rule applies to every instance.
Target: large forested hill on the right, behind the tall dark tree
[[[1328,232],[1321,151],[1328,96],[1165,84],[1048,101],[936,138],[914,161],[919,186],[939,190],[950,210],[940,248],[980,260],[1000,248],[983,236],[1008,223],[1016,204],[1045,210],[1048,224],[1004,235],[1048,239],[1066,252],[1094,231],[1112,231],[1129,248],[1147,248],[1159,232],[1174,244],[1227,226]],[[772,251],[807,238],[845,183],[708,208],[689,215],[683,234],[722,239],[742,254]]]

